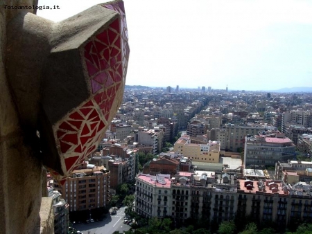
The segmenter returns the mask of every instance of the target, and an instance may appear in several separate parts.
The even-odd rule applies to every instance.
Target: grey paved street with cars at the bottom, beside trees
[[[114,231],[123,233],[123,231],[130,230],[128,224],[123,224],[125,208],[126,206],[119,208],[116,215],[110,215],[110,213],[108,213],[103,221],[90,224],[75,224],[73,228],[76,228],[77,231],[80,231],[83,234],[112,234]]]

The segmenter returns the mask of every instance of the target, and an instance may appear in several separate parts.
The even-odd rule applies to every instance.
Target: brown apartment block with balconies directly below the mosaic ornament
[[[70,211],[105,207],[110,200],[110,171],[85,162],[63,185],[54,180],[53,188],[64,196]]]

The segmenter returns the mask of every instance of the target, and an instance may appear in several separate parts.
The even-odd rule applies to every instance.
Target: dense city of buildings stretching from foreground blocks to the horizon
[[[311,93],[127,86],[96,152],[63,186],[48,183],[83,233],[139,231],[155,218],[180,233],[243,220],[284,233],[311,222],[311,155]]]

